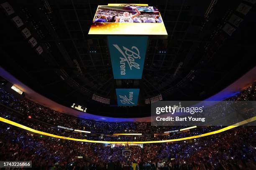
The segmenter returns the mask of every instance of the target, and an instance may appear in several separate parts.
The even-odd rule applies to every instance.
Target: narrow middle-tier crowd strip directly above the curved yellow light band
[[[29,128],[33,128],[35,130],[39,130],[46,133],[51,133],[54,135],[65,136],[69,138],[77,138],[77,139],[87,139],[87,140],[102,140],[102,141],[152,141],[152,140],[169,140],[169,139],[177,139],[184,138],[189,136],[200,135],[203,133],[211,132],[214,130],[218,130],[223,128],[222,126],[200,126],[198,128],[186,131],[177,131],[173,133],[165,133],[165,134],[142,134],[138,136],[122,136],[122,135],[108,135],[108,134],[95,134],[95,133],[80,133],[75,132],[73,130],[66,130],[62,128],[58,128],[56,126],[52,126],[51,124],[41,122],[35,119],[30,119],[28,117],[24,117],[23,115],[15,114],[15,112],[11,112],[6,107],[0,105],[0,116],[5,119],[18,122],[21,125],[25,125]],[[178,127],[176,127],[178,128]]]

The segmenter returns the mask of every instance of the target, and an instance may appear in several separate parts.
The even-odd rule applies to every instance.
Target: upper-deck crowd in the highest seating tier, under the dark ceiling
[[[237,94],[228,100],[255,100],[256,86],[246,88],[243,92]],[[24,115],[24,117],[31,117],[32,119],[46,122],[54,126],[64,126],[67,128],[87,130],[92,133],[143,133],[154,134],[164,133],[170,130],[177,130],[177,126],[151,126],[150,122],[104,122],[96,120],[88,120],[72,115],[63,114],[39,105],[26,98],[16,99],[12,94],[0,88],[0,104],[7,106],[13,110]],[[228,110],[228,109],[226,109]],[[214,113],[214,112],[213,112]]]

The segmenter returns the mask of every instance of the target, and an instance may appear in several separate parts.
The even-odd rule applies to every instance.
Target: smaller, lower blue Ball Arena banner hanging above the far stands
[[[136,106],[140,89],[115,89],[118,106]]]

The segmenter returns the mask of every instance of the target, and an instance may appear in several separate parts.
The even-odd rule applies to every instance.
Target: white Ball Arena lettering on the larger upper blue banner
[[[122,54],[123,57],[119,57],[120,58],[120,74],[121,75],[125,75],[125,64],[127,64],[130,68],[130,70],[133,70],[133,68],[135,69],[140,69],[140,65],[136,62],[136,59],[139,60],[141,59],[140,57],[140,51],[138,50],[138,48],[136,46],[132,46],[131,50],[124,47],[123,46],[123,50],[125,50],[125,52],[123,52],[123,50],[117,45],[117,44],[113,44],[113,46]],[[135,51],[133,51],[135,50]]]

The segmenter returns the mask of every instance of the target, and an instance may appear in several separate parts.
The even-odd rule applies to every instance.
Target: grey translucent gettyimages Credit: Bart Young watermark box
[[[159,101],[151,104],[153,126],[229,126],[256,116],[256,101]]]

